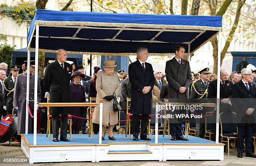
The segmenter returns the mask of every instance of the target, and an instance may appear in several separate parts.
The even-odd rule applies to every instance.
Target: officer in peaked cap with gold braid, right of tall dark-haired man
[[[207,88],[209,86],[210,81],[208,81],[210,73],[209,68],[202,69],[200,72],[200,79],[194,81],[192,83],[192,89],[190,94],[191,102],[199,102],[205,103],[207,102]],[[202,114],[205,116],[207,112],[206,108],[202,110],[195,110],[197,114]],[[197,128],[197,136],[200,138],[204,138],[205,136],[205,119],[200,118],[196,119],[196,128]]]

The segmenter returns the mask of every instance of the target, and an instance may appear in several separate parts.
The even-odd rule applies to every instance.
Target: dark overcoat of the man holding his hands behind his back
[[[50,103],[71,102],[69,82],[72,74],[72,66],[64,62],[64,70],[56,60],[46,67],[44,74],[44,86],[50,93]],[[50,107],[50,115],[71,114],[70,107]]]

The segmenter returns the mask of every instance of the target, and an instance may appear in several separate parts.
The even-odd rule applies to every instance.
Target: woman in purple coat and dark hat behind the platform
[[[84,78],[84,74],[81,72],[74,72],[71,76],[72,83],[69,84],[71,90],[71,102],[85,102],[84,87],[79,82]],[[81,117],[81,107],[71,107],[72,115]],[[72,131],[74,134],[79,134],[82,130],[82,120],[72,117]]]

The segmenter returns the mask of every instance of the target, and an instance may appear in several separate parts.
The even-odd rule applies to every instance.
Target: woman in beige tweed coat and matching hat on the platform
[[[115,61],[108,59],[105,60],[103,64],[105,71],[97,72],[96,102],[100,102],[100,99],[103,99],[102,140],[105,140],[104,125],[109,125],[108,139],[115,140],[113,137],[113,125],[118,124],[118,112],[114,112],[113,110],[113,93],[115,92],[115,94],[118,95],[120,92],[118,73],[114,72],[115,67],[117,67]],[[92,122],[100,124],[100,107],[95,107]]]

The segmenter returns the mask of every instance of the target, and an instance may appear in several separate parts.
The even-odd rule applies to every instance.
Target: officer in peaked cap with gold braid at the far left
[[[10,67],[10,76],[3,80],[5,87],[5,95],[3,97],[4,109],[7,114],[12,114],[13,111],[13,92],[16,78],[19,74],[20,66],[13,65]],[[15,111],[14,111],[15,112]]]

